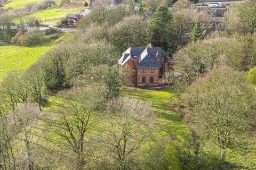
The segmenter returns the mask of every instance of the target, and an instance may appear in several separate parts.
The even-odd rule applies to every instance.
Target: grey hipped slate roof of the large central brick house
[[[156,57],[157,53],[159,60]],[[161,68],[161,62],[164,60],[164,56],[167,57],[167,53],[161,47],[152,47],[151,45],[145,48],[128,48],[122,54],[118,64],[124,65],[130,59],[134,61],[134,56],[137,56],[137,68]],[[170,58],[167,57],[167,60],[170,61]]]

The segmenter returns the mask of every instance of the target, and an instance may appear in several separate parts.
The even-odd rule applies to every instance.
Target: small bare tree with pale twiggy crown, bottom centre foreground
[[[150,111],[150,104],[138,99],[119,98],[111,102],[107,143],[119,162],[125,162],[147,139],[154,122]]]

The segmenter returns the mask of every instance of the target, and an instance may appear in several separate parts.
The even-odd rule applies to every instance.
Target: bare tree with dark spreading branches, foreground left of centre
[[[99,90],[88,88],[73,88],[65,93],[67,98],[57,106],[54,116],[45,121],[50,132],[61,137],[62,144],[73,152],[76,169],[82,169],[86,133],[101,120],[93,113],[101,104],[102,96]]]

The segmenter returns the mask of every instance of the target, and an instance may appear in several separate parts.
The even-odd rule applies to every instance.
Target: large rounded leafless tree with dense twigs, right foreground
[[[242,73],[221,66],[193,83],[186,94],[185,120],[201,139],[221,149],[222,160],[227,148],[250,145],[255,94]]]

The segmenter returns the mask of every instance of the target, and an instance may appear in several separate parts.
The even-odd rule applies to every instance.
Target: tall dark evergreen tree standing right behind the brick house
[[[151,20],[150,40],[154,46],[162,47],[167,49],[169,33],[167,26],[172,19],[168,8],[166,6],[158,6],[153,14]]]

